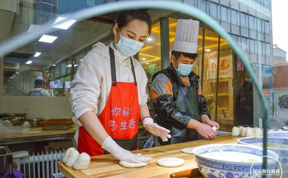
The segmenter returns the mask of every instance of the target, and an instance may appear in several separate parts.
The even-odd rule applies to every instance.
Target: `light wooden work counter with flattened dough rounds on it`
[[[148,166],[141,168],[124,168],[118,164],[112,155],[94,156],[91,157],[89,168],[82,171],[74,170],[71,167],[67,167],[62,161],[59,161],[57,168],[66,177],[170,177],[171,174],[180,171],[186,171],[189,169],[197,168],[192,154],[185,154],[181,152],[182,148],[197,147],[200,145],[206,145],[210,143],[237,143],[237,139],[240,137],[232,137],[230,135],[224,135],[216,137],[214,140],[198,140],[187,143],[178,143],[173,145],[166,145],[160,147],[153,147],[148,149],[140,149],[132,151],[133,153],[141,153],[143,156],[150,156],[152,160]],[[174,168],[166,168],[157,165],[157,160],[165,157],[177,157],[185,160],[182,166]]]

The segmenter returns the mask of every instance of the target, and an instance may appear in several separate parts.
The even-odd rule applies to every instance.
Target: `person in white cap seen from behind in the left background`
[[[27,92],[27,96],[51,96],[50,93],[43,89],[44,88],[44,78],[36,77],[35,79],[35,87]]]

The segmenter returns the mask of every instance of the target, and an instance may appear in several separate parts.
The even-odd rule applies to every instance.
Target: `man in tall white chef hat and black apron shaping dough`
[[[199,21],[177,20],[176,35],[168,68],[153,75],[150,96],[158,125],[170,130],[171,139],[161,145],[213,139],[219,129],[211,121],[207,102],[192,69],[197,57]]]

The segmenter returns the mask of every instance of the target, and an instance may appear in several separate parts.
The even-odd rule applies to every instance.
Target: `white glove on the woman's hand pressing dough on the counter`
[[[151,157],[144,157],[141,154],[133,154],[130,151],[123,149],[109,136],[104,142],[102,147],[107,152],[111,153],[119,161],[140,163],[149,162],[152,160]]]

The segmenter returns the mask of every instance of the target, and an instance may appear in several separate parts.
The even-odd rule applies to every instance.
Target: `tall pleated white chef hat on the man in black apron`
[[[197,53],[199,21],[192,19],[177,20],[173,50]]]

